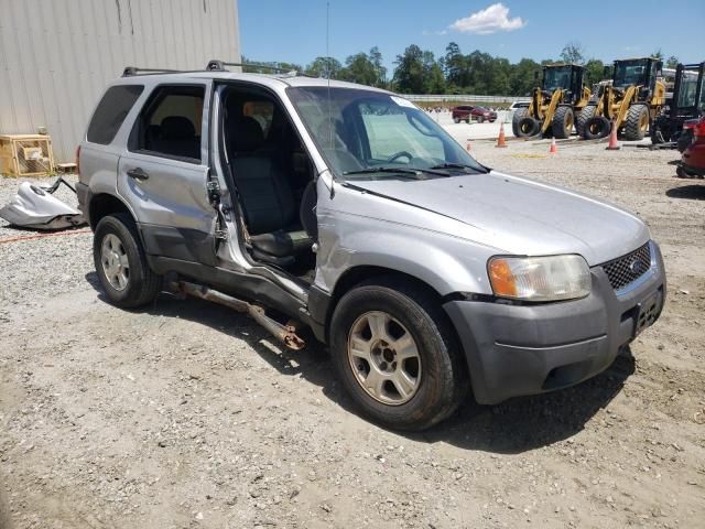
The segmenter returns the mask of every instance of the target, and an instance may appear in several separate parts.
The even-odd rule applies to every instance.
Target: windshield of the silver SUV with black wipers
[[[333,173],[344,180],[426,180],[487,172],[430,116],[401,97],[356,88],[288,94]]]

